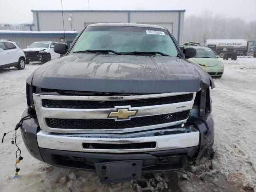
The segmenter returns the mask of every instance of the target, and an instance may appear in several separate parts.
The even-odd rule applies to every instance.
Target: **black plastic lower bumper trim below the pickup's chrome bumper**
[[[94,163],[142,160],[142,172],[161,172],[183,168],[187,160],[191,160],[196,154],[198,146],[134,154],[72,152],[45,148],[39,150],[45,162],[62,168],[96,171]],[[169,162],[164,163],[163,159],[169,159]]]

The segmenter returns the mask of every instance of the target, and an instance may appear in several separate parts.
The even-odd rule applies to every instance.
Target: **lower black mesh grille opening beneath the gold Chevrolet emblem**
[[[50,128],[60,129],[123,129],[164,124],[185,120],[188,118],[190,110],[171,114],[152,115],[144,117],[134,117],[126,121],[115,121],[114,119],[59,119],[46,118],[46,124]]]

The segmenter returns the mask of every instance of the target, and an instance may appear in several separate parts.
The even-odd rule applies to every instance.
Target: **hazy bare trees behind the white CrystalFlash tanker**
[[[200,15],[185,18],[182,42],[195,41],[204,44],[206,39],[256,39],[256,20],[246,23],[240,18],[226,18],[205,10]]]

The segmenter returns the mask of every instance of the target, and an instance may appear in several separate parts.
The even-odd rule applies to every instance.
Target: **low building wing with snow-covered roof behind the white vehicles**
[[[65,39],[68,45],[72,43],[78,32],[65,31]],[[13,31],[0,30],[0,39],[7,39],[16,42],[24,49],[36,41],[64,42],[63,31]]]

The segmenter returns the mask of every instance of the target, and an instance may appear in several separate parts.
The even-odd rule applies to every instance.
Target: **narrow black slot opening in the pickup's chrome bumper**
[[[84,149],[110,149],[110,150],[147,149],[147,148],[156,148],[156,142],[125,143],[125,144],[83,143],[82,146]]]

